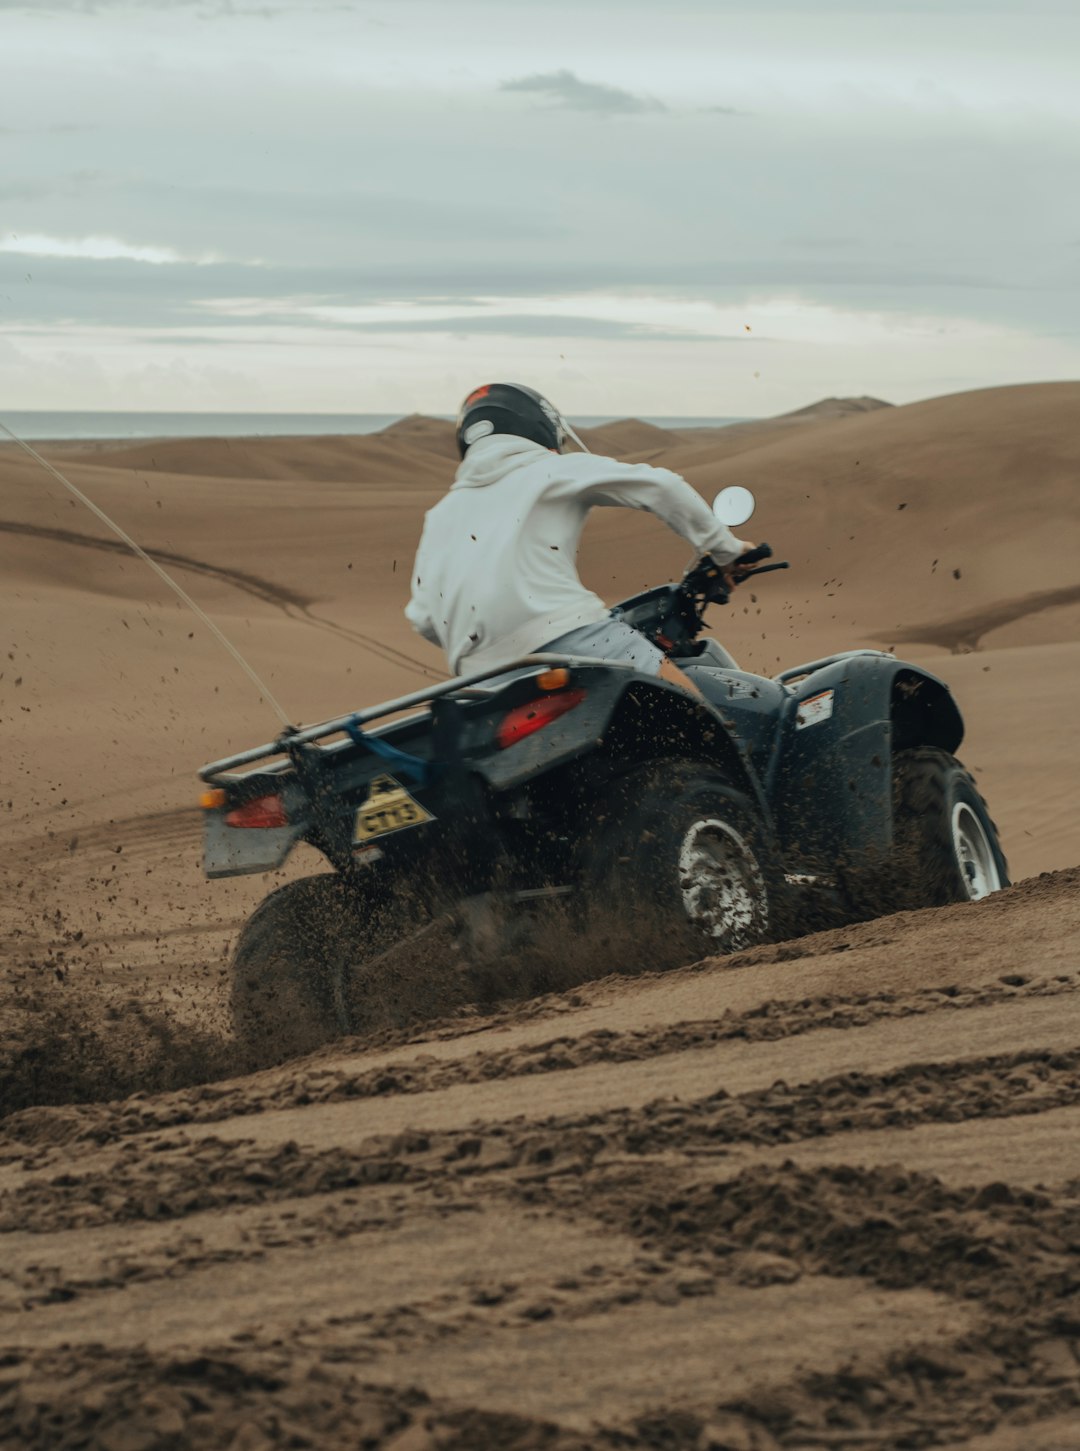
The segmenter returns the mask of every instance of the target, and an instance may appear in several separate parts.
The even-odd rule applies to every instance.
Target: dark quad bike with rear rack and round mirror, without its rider
[[[749,517],[735,495],[749,498],[716,502],[729,524]],[[299,842],[332,868],[244,926],[238,1037],[283,1053],[406,1022],[395,950],[422,956],[447,918],[489,965],[480,994],[512,997],[517,956],[544,937],[556,962],[586,948],[598,975],[1006,887],[948,686],[878,650],[750,675],[701,638],[729,596],[704,560],[613,611],[701,698],[623,663],[533,654],[205,766],[208,876],[274,871]],[[430,956],[425,1016],[463,1001],[446,943]]]

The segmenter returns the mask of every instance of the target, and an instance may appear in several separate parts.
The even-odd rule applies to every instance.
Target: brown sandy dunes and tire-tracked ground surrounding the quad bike
[[[1018,887],[247,1075],[270,884],[200,879],[193,775],[273,715],[0,450],[0,1445],[1080,1447],[1079,416],[592,440],[755,489],[795,569],[714,612],[748,666],[952,685]],[[290,712],[441,672],[399,612],[446,428],[48,456]],[[582,554],[611,599],[682,563],[617,511]]]

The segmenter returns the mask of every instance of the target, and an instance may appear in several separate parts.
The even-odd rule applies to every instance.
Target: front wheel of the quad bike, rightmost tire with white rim
[[[891,910],[978,901],[1009,885],[997,827],[974,778],[946,750],[893,757]]]

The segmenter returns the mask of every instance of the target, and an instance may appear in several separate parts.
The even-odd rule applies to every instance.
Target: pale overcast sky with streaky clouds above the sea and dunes
[[[0,0],[0,415],[1079,376],[1076,0]]]

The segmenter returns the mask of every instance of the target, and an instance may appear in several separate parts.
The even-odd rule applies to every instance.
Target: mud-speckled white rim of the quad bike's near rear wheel
[[[727,821],[695,821],[679,849],[687,920],[726,952],[749,948],[768,927],[765,879],[743,837]]]

